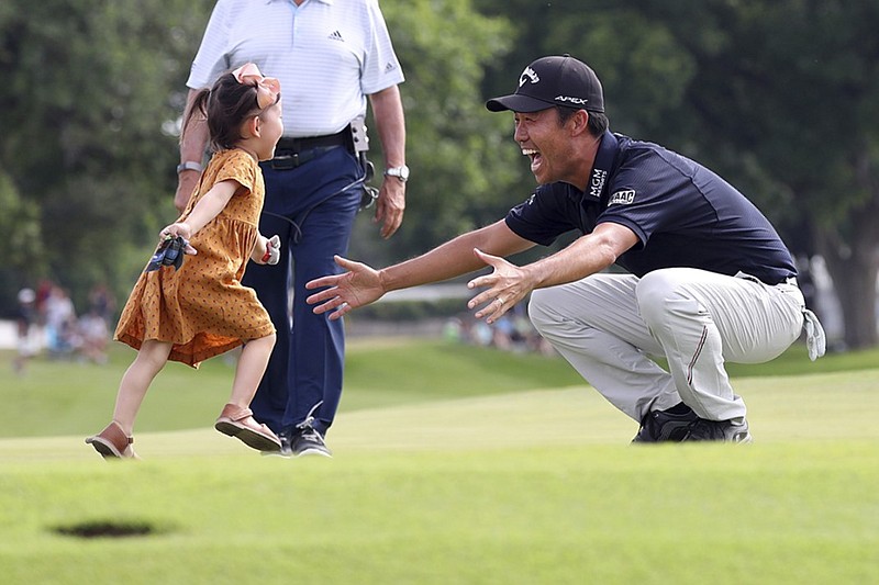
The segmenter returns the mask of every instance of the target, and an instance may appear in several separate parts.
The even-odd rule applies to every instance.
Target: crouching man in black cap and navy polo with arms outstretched
[[[725,361],[779,356],[806,328],[824,352],[791,256],[764,215],[730,183],[683,156],[608,131],[596,74],[568,56],[535,60],[515,93],[489,100],[514,113],[515,140],[539,187],[507,217],[405,262],[307,284],[314,312],[338,318],[388,291],[488,265],[469,307],[496,322],[531,294],[528,314],[550,344],[620,410],[636,442],[749,442],[745,403]],[[502,257],[582,236],[518,267]],[[628,273],[602,272],[617,265]],[[664,357],[669,371],[648,356]]]

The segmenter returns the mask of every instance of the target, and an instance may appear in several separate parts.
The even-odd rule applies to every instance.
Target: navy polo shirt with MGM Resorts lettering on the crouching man
[[[705,167],[661,146],[604,133],[586,192],[541,185],[507,215],[520,237],[544,246],[613,222],[639,243],[616,263],[637,277],[688,267],[768,284],[795,277],[793,259],[760,211]]]

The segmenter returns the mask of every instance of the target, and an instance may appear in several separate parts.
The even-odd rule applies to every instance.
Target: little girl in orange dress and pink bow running
[[[259,451],[281,447],[249,409],[275,346],[275,327],[253,289],[241,284],[248,259],[277,263],[280,257],[277,237],[267,239],[257,228],[265,194],[258,161],[272,158],[283,132],[280,83],[247,64],[198,92],[183,132],[197,111],[207,116],[213,156],[182,215],[160,233],[163,240],[183,238],[186,260],[151,266],[122,311],[115,339],[137,357],[120,382],[112,423],[86,439],[104,458],[137,458],[134,419],[168,360],[198,368],[241,345],[232,396],[215,428]]]

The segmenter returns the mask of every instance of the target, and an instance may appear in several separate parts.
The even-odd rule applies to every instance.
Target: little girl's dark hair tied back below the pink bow
[[[259,113],[256,87],[240,83],[232,74],[224,74],[212,88],[200,89],[183,114],[183,131],[196,115],[208,120],[210,148],[212,153],[232,148],[242,139],[242,122]]]

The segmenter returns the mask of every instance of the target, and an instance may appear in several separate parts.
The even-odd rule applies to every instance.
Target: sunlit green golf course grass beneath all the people
[[[2,583],[879,583],[879,368],[743,372],[754,445],[630,446],[560,360],[353,346],[334,459],[286,460],[211,428],[216,362],[163,372],[144,461],[107,463],[82,438],[131,356],[0,374]],[[64,533],[101,526],[146,533]]]

